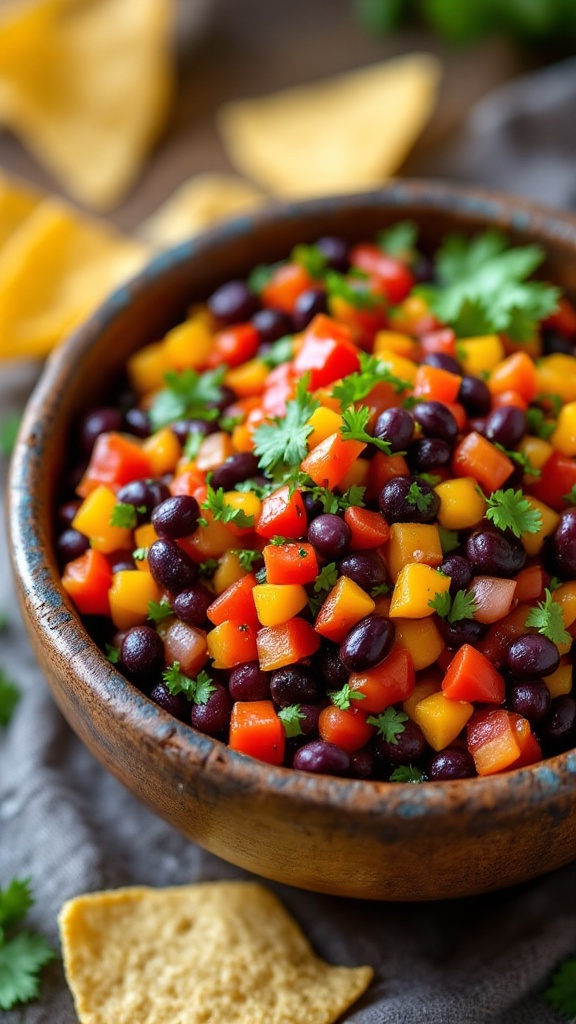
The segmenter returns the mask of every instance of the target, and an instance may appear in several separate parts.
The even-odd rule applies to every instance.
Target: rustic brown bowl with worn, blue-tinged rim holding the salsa
[[[54,556],[56,481],[74,423],[126,357],[254,264],[322,234],[371,237],[410,217],[425,246],[496,225],[541,243],[543,272],[576,295],[576,219],[505,197],[399,182],[374,195],[235,220],[157,258],[50,360],[29,404],[9,483],[24,616],[53,695],[83,742],[189,839],[257,874],[385,900],[440,899],[519,883],[576,857],[576,751],[491,778],[395,784],[307,775],[230,751],[175,721],[100,653]]]

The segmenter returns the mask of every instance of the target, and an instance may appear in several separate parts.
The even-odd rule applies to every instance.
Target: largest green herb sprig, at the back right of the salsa
[[[559,289],[527,281],[542,262],[539,246],[508,248],[498,231],[448,237],[437,254],[438,286],[420,289],[430,310],[466,338],[505,332],[527,341],[557,308]]]

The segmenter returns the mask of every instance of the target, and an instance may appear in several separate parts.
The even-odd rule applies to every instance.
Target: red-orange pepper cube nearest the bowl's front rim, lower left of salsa
[[[230,720],[229,746],[269,765],[284,761],[286,731],[272,700],[237,700]]]

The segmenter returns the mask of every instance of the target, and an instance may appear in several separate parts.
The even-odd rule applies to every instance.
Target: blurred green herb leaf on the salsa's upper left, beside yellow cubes
[[[190,367],[179,372],[168,370],[164,375],[166,387],[158,392],[149,410],[152,429],[160,430],[174,420],[217,419],[217,409],[209,407],[222,397],[221,385],[227,369],[222,366],[202,374]]]

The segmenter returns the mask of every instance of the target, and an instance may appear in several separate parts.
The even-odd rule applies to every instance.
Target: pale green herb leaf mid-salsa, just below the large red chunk
[[[286,402],[285,416],[276,416],[254,430],[254,454],[259,468],[269,475],[278,469],[295,469],[307,455],[306,440],[314,430],[308,421],[320,408],[318,399],[307,392],[308,381],[307,374],[298,381],[294,398]]]

